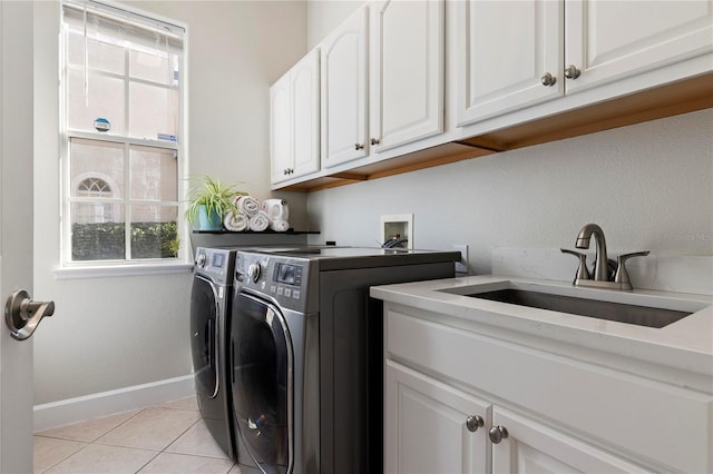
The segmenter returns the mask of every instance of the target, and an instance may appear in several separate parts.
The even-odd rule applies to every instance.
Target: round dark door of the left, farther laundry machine
[[[218,393],[216,324],[218,304],[213,284],[196,275],[191,290],[191,348],[196,391],[214,398]]]

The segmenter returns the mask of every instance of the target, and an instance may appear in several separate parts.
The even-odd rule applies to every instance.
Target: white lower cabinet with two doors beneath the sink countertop
[[[385,302],[384,472],[712,472],[713,392],[527,337]]]

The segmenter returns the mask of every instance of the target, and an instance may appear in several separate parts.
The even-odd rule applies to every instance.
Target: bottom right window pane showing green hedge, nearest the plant
[[[177,206],[131,206],[131,258],[175,258]]]

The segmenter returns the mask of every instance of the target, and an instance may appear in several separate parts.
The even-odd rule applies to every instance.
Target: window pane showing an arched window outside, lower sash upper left
[[[124,197],[124,144],[72,138],[69,156],[71,197]]]

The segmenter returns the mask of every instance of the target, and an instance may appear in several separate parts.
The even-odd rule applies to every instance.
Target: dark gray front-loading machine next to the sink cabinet
[[[229,372],[244,474],[383,467],[383,317],[369,287],[450,278],[457,251],[238,251]]]

